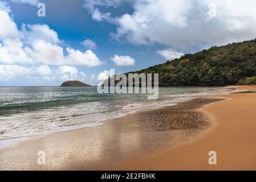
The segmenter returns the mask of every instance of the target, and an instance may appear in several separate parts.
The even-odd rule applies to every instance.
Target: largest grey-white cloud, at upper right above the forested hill
[[[84,7],[93,15],[97,8],[117,7],[123,2],[132,6],[132,14],[101,19],[116,25],[111,34],[116,40],[184,49],[256,37],[254,0],[98,0],[86,1]]]

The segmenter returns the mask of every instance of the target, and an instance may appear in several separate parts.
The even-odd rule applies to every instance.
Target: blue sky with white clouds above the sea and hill
[[[110,69],[138,71],[255,39],[255,7],[254,0],[0,0],[0,86],[97,85]]]

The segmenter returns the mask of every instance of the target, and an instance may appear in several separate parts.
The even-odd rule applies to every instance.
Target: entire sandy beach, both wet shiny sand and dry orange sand
[[[0,169],[255,170],[255,96],[199,97],[31,138],[2,148]],[[45,152],[45,165],[38,164],[38,151]],[[209,165],[209,151],[217,152],[217,165]]]

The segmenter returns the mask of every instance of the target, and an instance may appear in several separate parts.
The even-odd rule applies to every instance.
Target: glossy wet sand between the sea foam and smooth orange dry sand
[[[207,130],[213,123],[198,109],[217,101],[221,100],[198,98],[111,119],[97,127],[20,142],[0,150],[0,169],[96,170],[139,160],[156,151],[177,147]],[[46,153],[44,166],[37,163],[38,151]]]

